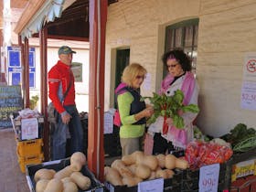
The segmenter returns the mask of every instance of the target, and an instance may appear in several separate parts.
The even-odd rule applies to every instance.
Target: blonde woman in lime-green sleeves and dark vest
[[[138,63],[132,63],[123,70],[122,82],[115,90],[118,110],[121,117],[120,143],[122,155],[130,155],[142,150],[145,118],[153,114],[152,107],[146,107],[140,101],[139,89],[144,81],[146,69]]]

